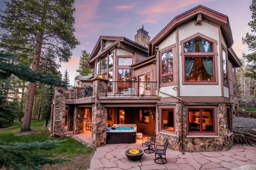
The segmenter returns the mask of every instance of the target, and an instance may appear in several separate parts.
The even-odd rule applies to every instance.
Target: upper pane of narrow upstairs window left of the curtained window
[[[162,74],[173,72],[173,54],[172,49],[162,53]]]

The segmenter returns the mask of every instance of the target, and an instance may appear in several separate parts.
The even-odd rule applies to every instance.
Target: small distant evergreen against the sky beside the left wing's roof
[[[93,74],[94,72],[93,69],[90,69],[85,66],[85,63],[89,59],[89,56],[90,56],[90,53],[87,53],[86,50],[82,51],[82,56],[80,56],[80,60],[79,60],[79,66],[78,66],[78,69],[76,70],[76,72],[79,73],[79,75]]]

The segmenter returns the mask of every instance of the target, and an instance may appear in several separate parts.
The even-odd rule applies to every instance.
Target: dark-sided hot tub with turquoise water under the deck
[[[135,142],[136,130],[133,127],[113,127],[107,130],[107,144]]]

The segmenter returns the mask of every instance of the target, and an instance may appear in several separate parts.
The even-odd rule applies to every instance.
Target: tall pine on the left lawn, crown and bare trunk
[[[11,0],[0,16],[4,29],[2,47],[17,52],[33,52],[31,70],[39,70],[41,53],[51,49],[62,62],[78,44],[74,36],[74,0]],[[29,83],[21,132],[30,131],[36,84]]]

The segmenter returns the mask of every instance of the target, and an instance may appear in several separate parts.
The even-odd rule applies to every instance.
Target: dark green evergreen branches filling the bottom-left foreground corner
[[[63,141],[63,140],[62,140]],[[51,159],[49,154],[37,154],[34,150],[50,150],[62,141],[5,143],[0,141],[0,168],[42,169],[44,164],[57,164],[67,159]],[[43,153],[43,152],[42,152]]]

